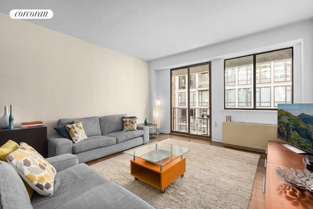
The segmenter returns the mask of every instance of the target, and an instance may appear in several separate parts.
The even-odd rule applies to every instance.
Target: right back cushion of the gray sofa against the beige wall
[[[102,135],[116,131],[123,131],[123,116],[127,117],[126,114],[99,117]]]

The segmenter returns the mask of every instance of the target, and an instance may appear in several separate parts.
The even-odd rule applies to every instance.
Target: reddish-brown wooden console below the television
[[[265,209],[309,209],[313,207],[313,192],[287,185],[276,169],[305,169],[304,154],[296,154],[282,146],[286,142],[268,141],[266,163]],[[313,172],[313,171],[311,171]]]

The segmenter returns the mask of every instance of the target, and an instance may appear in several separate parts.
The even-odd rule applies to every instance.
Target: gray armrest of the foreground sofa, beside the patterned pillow
[[[72,154],[58,155],[45,159],[57,172],[78,164],[78,157]]]

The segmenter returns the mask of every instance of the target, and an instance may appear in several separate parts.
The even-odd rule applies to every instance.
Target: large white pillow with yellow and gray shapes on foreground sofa
[[[22,179],[35,191],[44,196],[53,195],[55,168],[34,148],[21,142],[20,147],[6,156]]]

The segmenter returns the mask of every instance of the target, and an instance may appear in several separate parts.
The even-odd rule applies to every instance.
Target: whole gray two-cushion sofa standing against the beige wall
[[[58,126],[82,121],[88,139],[73,143],[59,134],[49,135],[48,157],[73,154],[79,163],[86,163],[149,142],[149,127],[137,125],[137,130],[123,131],[126,114],[85,118],[62,118]]]

